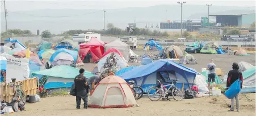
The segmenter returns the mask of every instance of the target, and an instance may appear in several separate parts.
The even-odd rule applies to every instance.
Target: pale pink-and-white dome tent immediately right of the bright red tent
[[[116,39],[113,42],[105,44],[104,47],[105,47],[106,51],[108,51],[110,48],[115,48],[116,50],[119,50],[123,54],[123,57],[126,60],[126,63],[129,61],[130,47],[128,44]],[[104,57],[104,55],[102,57]]]

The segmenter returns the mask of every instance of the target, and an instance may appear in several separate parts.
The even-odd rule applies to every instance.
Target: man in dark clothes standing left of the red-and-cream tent
[[[81,99],[83,99],[83,108],[87,109],[88,95],[86,91],[87,79],[83,76],[85,69],[79,70],[79,75],[77,75],[74,79],[75,82],[75,90],[76,90],[76,101],[77,101],[77,109],[80,109]]]

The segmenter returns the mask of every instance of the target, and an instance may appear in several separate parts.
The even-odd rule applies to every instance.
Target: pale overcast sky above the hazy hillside
[[[6,1],[7,11],[30,11],[41,9],[113,9],[125,7],[149,7],[156,5],[178,5],[178,1]],[[1,12],[4,7],[1,1]],[[255,6],[255,1],[192,1],[186,0],[185,5],[206,5],[215,6]]]

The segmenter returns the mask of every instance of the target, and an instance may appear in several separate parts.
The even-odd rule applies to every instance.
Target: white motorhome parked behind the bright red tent
[[[74,34],[72,37],[74,42],[78,42],[78,44],[81,44],[84,42],[89,42],[92,37],[100,40],[100,33],[87,32],[86,34]]]

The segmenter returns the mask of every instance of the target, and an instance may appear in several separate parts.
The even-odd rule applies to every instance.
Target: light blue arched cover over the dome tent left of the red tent
[[[58,53],[61,53],[61,52],[69,53],[73,57],[74,62],[75,63],[77,62],[78,52],[77,51],[73,51],[73,50],[68,50],[68,49],[65,49],[65,48],[58,49],[56,52],[54,52],[52,54],[52,56],[51,56],[49,61],[53,61],[54,58],[58,55]]]

